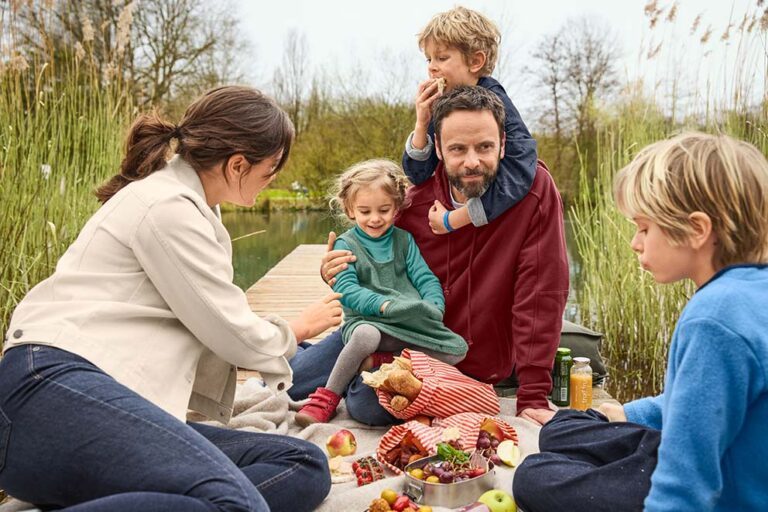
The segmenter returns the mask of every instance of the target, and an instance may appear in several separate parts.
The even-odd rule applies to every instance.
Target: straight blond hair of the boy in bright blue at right
[[[768,261],[768,161],[727,135],[683,133],[643,149],[616,175],[614,198],[629,218],[647,217],[673,244],[706,213],[717,237],[715,267]]]

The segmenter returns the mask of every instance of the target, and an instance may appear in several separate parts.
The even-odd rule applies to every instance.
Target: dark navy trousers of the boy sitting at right
[[[592,409],[558,411],[541,429],[541,453],[515,471],[515,501],[525,512],[642,511],[660,442],[659,430]]]

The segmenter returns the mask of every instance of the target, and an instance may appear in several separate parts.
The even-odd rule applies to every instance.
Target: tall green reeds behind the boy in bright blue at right
[[[768,154],[765,114],[726,112],[720,123],[683,127],[638,112],[624,112],[598,134],[597,170],[580,189],[571,210],[580,258],[577,298],[581,321],[605,334],[607,390],[624,402],[663,389],[667,349],[693,285],[658,285],[643,271],[629,243],[634,225],[616,209],[612,182],[644,146],[686,128],[723,132],[748,140]]]

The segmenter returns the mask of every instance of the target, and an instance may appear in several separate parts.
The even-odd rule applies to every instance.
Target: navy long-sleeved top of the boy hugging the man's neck
[[[512,104],[504,87],[494,78],[485,76],[477,83],[496,94],[504,103],[504,131],[506,133],[504,158],[499,162],[496,179],[479,199],[467,202],[470,219],[476,226],[482,226],[496,219],[499,215],[518,203],[533,184],[536,176],[536,141],[525,126],[520,113]],[[429,151],[425,160],[412,158],[408,151],[403,153],[403,169],[408,178],[416,185],[432,176],[439,162],[432,141],[435,138],[435,126],[430,121],[428,134]],[[431,147],[431,149],[430,149]]]

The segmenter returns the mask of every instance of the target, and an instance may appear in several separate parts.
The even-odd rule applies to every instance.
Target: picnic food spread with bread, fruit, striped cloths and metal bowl
[[[517,433],[496,416],[499,405],[492,388],[407,349],[393,362],[361,376],[377,390],[382,406],[408,421],[382,435],[375,456],[343,465],[332,461],[334,481],[353,480],[365,486],[387,474],[404,473],[402,491],[385,489],[372,499],[369,512],[426,512],[432,506],[483,510],[480,498],[496,491],[496,469],[514,467],[520,460]],[[328,441],[333,453],[355,444],[346,430]]]

